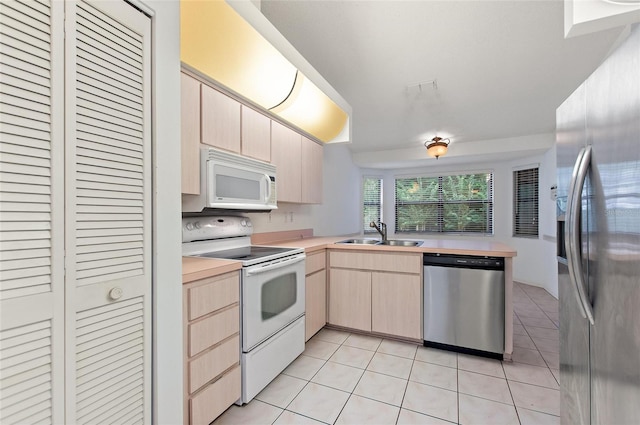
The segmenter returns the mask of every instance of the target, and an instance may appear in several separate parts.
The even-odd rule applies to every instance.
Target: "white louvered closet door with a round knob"
[[[151,422],[150,19],[66,3],[66,421]]]

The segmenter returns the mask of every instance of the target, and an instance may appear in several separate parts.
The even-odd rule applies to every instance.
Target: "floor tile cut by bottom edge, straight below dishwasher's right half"
[[[513,405],[497,403],[466,394],[460,394],[460,424],[462,425],[513,425],[518,414]]]

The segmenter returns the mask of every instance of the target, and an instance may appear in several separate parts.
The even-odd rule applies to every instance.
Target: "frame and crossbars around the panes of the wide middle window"
[[[466,201],[446,201],[442,198],[442,185],[443,179],[451,176],[468,176],[474,174],[488,174],[490,175],[490,187],[489,187],[489,196],[487,200],[466,200]],[[415,202],[416,205],[427,205],[432,204],[436,205],[438,208],[438,218],[437,224],[439,230],[419,230],[419,231],[406,231],[399,230],[398,228],[398,199],[397,199],[397,180],[401,179],[419,179],[419,178],[431,178],[438,179],[438,201],[429,201],[429,202]],[[495,171],[494,170],[470,170],[470,171],[461,171],[461,172],[444,172],[444,173],[434,173],[434,174],[411,174],[411,175],[397,175],[394,176],[394,231],[396,234],[432,234],[432,235],[473,235],[473,236],[494,236],[495,235]],[[477,231],[447,231],[444,230],[444,207],[445,205],[451,204],[484,204],[488,206],[488,231],[485,232],[477,232]],[[406,205],[406,204],[405,204]]]

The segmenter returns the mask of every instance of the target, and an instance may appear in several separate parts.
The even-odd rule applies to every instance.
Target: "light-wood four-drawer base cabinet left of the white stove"
[[[240,274],[183,285],[184,423],[206,425],[240,398]]]

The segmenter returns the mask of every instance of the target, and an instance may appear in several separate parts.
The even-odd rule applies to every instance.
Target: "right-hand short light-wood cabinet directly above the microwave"
[[[271,119],[242,105],[242,155],[271,162]]]

